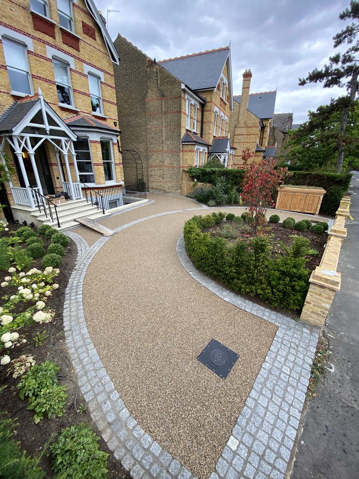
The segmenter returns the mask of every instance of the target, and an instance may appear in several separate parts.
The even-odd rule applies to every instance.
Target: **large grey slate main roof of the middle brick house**
[[[158,63],[193,90],[205,90],[216,88],[228,55],[226,46]]]

